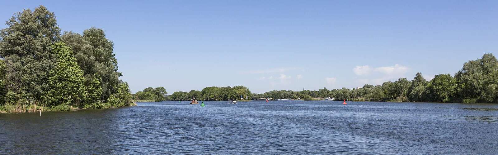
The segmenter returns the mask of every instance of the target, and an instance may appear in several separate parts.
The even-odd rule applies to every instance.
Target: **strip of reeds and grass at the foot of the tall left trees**
[[[131,102],[125,106],[135,106],[136,102]],[[84,107],[75,107],[70,105],[60,104],[57,106],[41,106],[37,104],[5,104],[0,105],[0,113],[26,113],[26,112],[42,112],[47,111],[75,111],[75,110],[87,110],[87,109],[109,109],[109,108],[120,108],[125,106],[112,106],[110,103],[95,103],[85,105]]]

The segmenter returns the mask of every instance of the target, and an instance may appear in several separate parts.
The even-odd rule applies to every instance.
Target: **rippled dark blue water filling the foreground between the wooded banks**
[[[0,114],[0,154],[498,154],[498,104],[205,103]]]

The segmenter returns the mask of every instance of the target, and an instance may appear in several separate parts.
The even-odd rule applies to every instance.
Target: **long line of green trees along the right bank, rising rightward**
[[[498,103],[498,61],[493,54],[465,63],[451,76],[440,74],[427,81],[421,73],[412,80],[399,78],[382,85],[366,84],[361,88],[327,88],[319,90],[273,90],[252,94],[252,98],[301,98],[333,97],[335,100],[356,101],[411,101],[411,102],[464,102]]]

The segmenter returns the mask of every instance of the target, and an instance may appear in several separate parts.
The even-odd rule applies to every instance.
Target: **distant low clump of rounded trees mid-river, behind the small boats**
[[[167,97],[167,100],[173,101],[184,101],[190,100],[192,97],[197,98],[198,100],[205,101],[229,101],[232,99],[240,99],[243,96],[244,99],[246,97],[248,99],[252,98],[252,94],[250,90],[242,85],[237,85],[234,87],[224,86],[224,87],[205,87],[201,91],[199,90],[190,90],[186,91],[176,91],[173,94]]]

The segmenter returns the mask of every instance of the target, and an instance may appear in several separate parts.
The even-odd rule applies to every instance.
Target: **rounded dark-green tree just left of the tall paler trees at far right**
[[[449,102],[455,94],[456,80],[450,74],[435,76],[427,89],[432,102]]]

